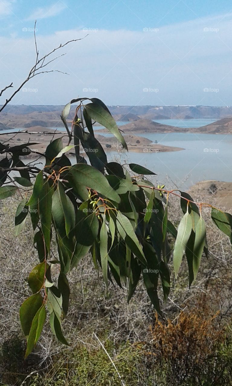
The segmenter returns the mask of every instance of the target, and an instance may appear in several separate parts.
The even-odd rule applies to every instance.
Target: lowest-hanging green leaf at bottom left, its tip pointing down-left
[[[24,359],[26,359],[29,354],[31,354],[34,346],[39,340],[41,332],[43,330],[44,322],[46,320],[46,309],[45,305],[41,306],[36,312],[31,324],[31,330],[27,339],[27,349]]]

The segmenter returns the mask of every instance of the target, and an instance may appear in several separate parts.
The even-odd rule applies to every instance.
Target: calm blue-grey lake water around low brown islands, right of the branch
[[[165,120],[169,124],[180,126],[179,120]],[[161,122],[161,121],[159,121]],[[164,122],[164,120],[162,120]],[[214,122],[213,120],[187,120],[192,127]],[[182,122],[182,123],[183,123]],[[120,122],[123,124],[124,122]],[[104,134],[110,135],[110,134]],[[231,134],[194,134],[194,133],[142,133],[139,136],[157,141],[167,146],[183,147],[177,152],[136,153],[123,151],[120,154],[122,163],[140,163],[151,169],[157,176],[154,181],[187,189],[198,181],[215,179],[232,181],[232,135]],[[108,161],[119,159],[116,152],[107,152]],[[71,160],[75,163],[75,159]],[[167,182],[168,181],[168,182]]]

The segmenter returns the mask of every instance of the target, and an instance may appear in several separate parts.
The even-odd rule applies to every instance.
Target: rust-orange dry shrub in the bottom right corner
[[[162,374],[167,369],[167,385],[216,386],[232,382],[231,356],[225,355],[228,330],[220,322],[220,312],[204,302],[202,296],[198,305],[181,311],[172,321],[160,321],[156,315],[150,327],[153,339],[147,354]]]

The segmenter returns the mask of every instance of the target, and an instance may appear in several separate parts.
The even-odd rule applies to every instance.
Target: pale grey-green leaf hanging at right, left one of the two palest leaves
[[[177,230],[177,238],[173,252],[173,266],[175,272],[175,278],[177,278],[179,267],[183,259],[183,254],[186,250],[186,244],[192,231],[192,218],[189,212],[186,212]]]

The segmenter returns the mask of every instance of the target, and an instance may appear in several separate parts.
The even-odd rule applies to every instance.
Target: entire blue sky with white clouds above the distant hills
[[[232,105],[228,1],[0,0],[2,86],[19,85],[34,63],[35,19],[41,54],[89,35],[49,68],[69,75],[34,78],[14,103],[89,95],[109,105]]]

